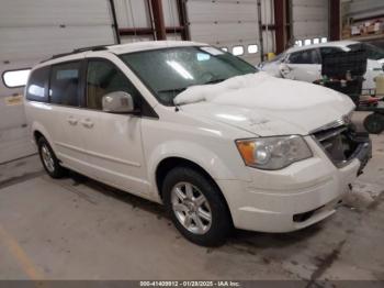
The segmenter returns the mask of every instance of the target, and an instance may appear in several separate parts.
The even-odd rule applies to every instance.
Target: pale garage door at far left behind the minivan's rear
[[[108,0],[12,0],[0,9],[0,163],[34,153],[22,106],[22,87],[10,73],[53,54],[115,43]],[[8,86],[4,84],[8,81]],[[20,78],[19,78],[20,80]],[[13,88],[12,88],[13,87]]]

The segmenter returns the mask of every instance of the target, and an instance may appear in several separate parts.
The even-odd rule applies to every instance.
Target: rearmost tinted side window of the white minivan
[[[49,67],[36,69],[32,73],[26,88],[26,99],[33,101],[48,101],[47,84],[49,78]]]

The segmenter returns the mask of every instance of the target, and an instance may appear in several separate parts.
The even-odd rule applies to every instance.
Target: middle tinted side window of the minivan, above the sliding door
[[[80,62],[52,66],[49,96],[50,102],[64,106],[79,106]]]

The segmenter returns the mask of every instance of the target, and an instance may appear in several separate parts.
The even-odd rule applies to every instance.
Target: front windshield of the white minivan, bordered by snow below
[[[121,58],[166,106],[173,106],[173,98],[190,86],[257,73],[245,60],[210,46],[144,51]]]

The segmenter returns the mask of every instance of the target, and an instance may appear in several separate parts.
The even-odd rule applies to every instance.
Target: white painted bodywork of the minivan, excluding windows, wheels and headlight
[[[337,202],[357,178],[361,162],[353,158],[337,167],[313,132],[340,124],[354,109],[348,97],[319,86],[260,74],[255,76],[260,77],[255,78],[260,85],[256,82],[251,88],[235,91],[241,101],[199,101],[176,109],[159,103],[116,56],[203,45],[136,43],[37,65],[34,69],[91,57],[109,59],[131,79],[158,118],[26,100],[32,133],[46,137],[63,166],[156,202],[162,201],[156,180],[161,162],[170,157],[193,162],[217,184],[234,225],[239,229],[289,232],[332,214]],[[264,100],[255,98],[256,95],[262,95]],[[262,170],[246,166],[235,145],[236,140],[287,134],[302,135],[313,157],[279,170]],[[295,214],[314,210],[305,221],[293,220]]]

